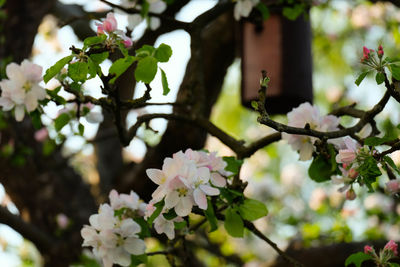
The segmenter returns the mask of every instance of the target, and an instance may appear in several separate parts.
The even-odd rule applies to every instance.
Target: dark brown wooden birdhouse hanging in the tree
[[[312,102],[310,21],[300,16],[291,21],[274,12],[261,24],[243,22],[242,103],[251,108],[258,98],[261,70],[271,78],[266,109],[287,113],[303,102]]]

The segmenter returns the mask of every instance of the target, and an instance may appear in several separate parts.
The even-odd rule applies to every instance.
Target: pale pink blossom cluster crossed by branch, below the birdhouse
[[[318,108],[308,102],[294,108],[287,116],[289,126],[304,128],[308,125],[310,129],[318,131],[338,130],[339,118],[333,115],[321,116]],[[315,137],[282,133],[282,139],[287,140],[289,145],[300,153],[300,160],[312,158]]]

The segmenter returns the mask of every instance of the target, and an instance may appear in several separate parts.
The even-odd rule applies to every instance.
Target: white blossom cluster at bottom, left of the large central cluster
[[[90,225],[81,230],[83,246],[93,247],[93,253],[102,259],[104,267],[113,263],[129,266],[130,255],[141,255],[146,245],[138,237],[141,227],[132,218],[144,215],[146,204],[137,194],[118,194],[112,190],[110,205],[102,204],[99,213],[90,216]]]

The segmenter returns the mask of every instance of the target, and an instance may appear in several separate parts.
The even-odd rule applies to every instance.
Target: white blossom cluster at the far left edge
[[[39,85],[42,81],[42,67],[24,60],[21,65],[10,63],[6,67],[8,79],[0,81],[0,106],[4,111],[14,108],[15,119],[22,121],[25,109],[34,111],[38,101],[46,97],[46,90]]]

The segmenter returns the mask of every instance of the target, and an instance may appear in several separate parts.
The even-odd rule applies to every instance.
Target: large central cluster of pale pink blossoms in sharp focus
[[[162,169],[148,169],[149,178],[158,188],[152,194],[148,206],[148,215],[155,210],[153,204],[164,200],[162,213],[155,219],[154,227],[158,233],[165,233],[168,238],[174,237],[174,222],[182,221],[189,215],[193,206],[207,209],[207,196],[219,195],[217,187],[224,187],[230,173],[225,171],[226,162],[215,153],[179,151],[172,158],[166,158]],[[176,217],[166,220],[163,214],[174,210]]]

